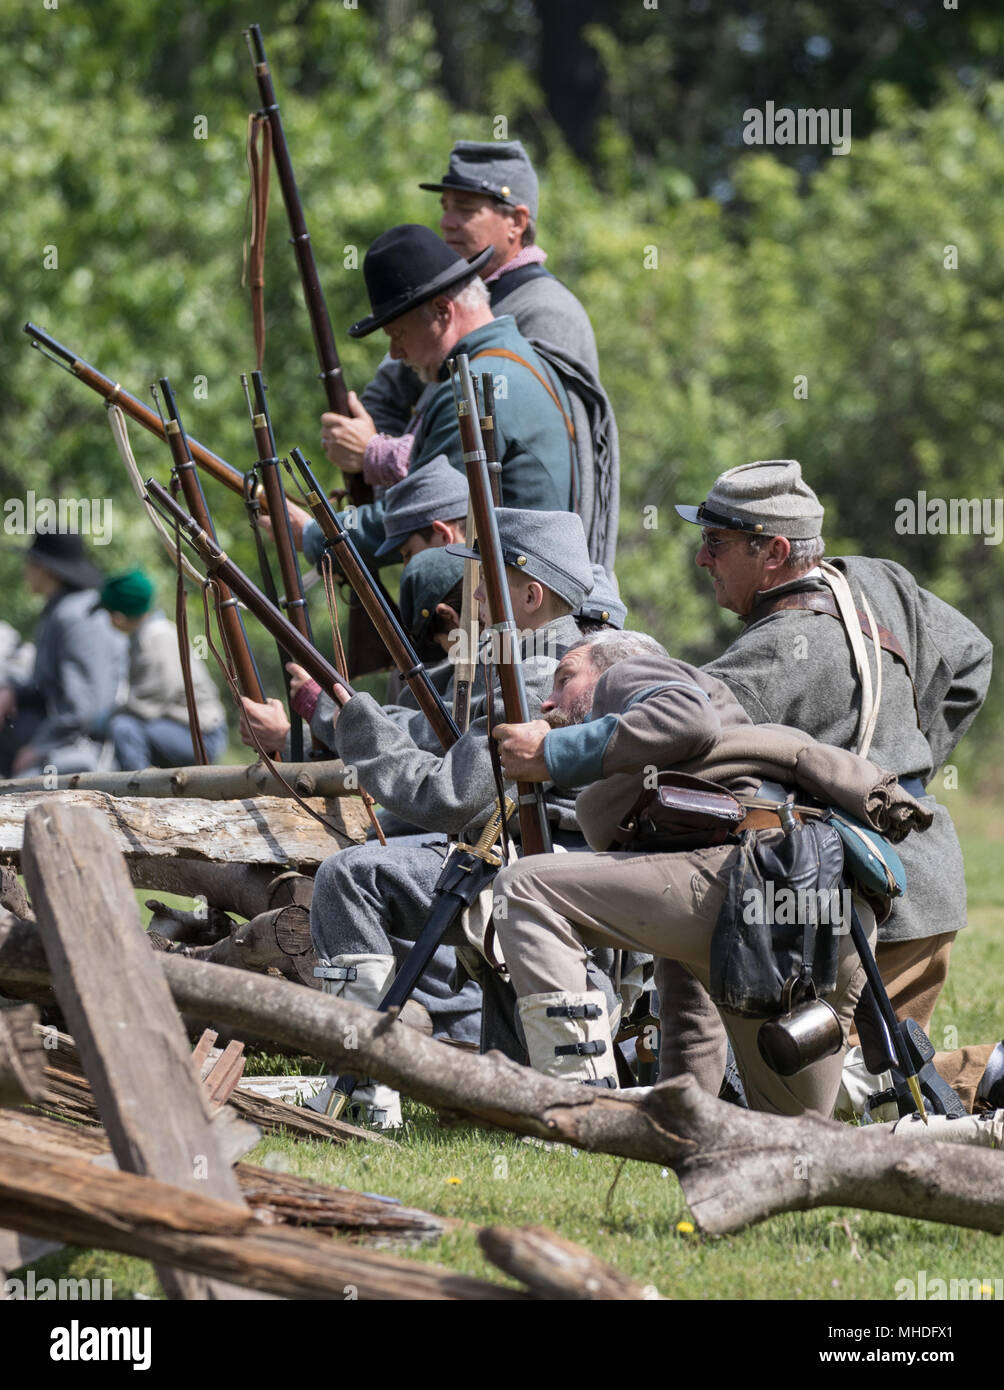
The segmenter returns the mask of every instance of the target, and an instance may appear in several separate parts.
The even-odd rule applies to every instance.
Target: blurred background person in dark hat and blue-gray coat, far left
[[[0,685],[0,773],[26,777],[43,767],[93,771],[104,739],[93,721],[110,709],[125,676],[125,638],[96,612],[102,573],[75,532],[39,532],[25,550],[25,580],[44,599],[35,630],[35,664]]]

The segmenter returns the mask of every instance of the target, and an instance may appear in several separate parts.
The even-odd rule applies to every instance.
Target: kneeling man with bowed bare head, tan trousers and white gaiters
[[[718,781],[740,799],[754,798],[765,778],[794,787],[805,769],[813,791],[864,816],[869,792],[883,783],[875,764],[844,749],[825,748],[798,730],[754,726],[727,685],[672,657],[640,655],[599,674],[581,649],[558,667],[545,705],[551,720],[495,730],[502,766],[520,781],[584,787],[576,816],[590,855],[534,855],[496,880],[498,933],[527,1036],[531,1063],[551,1076],[616,1086],[602,997],[585,984],[585,951],[613,947],[679,960],[706,987],[711,942],[726,884],[748,844],[667,852],[608,852],[656,770]],[[566,727],[553,727],[565,710]],[[798,769],[798,776],[795,776]],[[779,776],[783,774],[783,776]],[[647,783],[647,776],[649,781]],[[921,828],[929,816],[893,783],[886,788],[902,826]],[[758,810],[751,835],[784,835],[775,815]],[[741,827],[740,827],[741,828]],[[876,826],[884,828],[884,826]],[[875,915],[855,895],[865,930]],[[850,933],[839,937],[836,988],[827,1001],[844,1040],[865,983]],[[813,1062],[791,1077],[772,1072],[759,1055],[759,1020],[722,1012],[750,1104],[756,1109],[829,1115],[840,1084],[840,1055]],[[662,1017],[663,1036],[677,1024]],[[723,1058],[708,1058],[701,1084],[718,1094]]]

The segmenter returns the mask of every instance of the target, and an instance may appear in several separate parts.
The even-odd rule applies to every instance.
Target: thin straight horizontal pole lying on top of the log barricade
[[[282,777],[298,795],[357,796],[341,762],[282,763]],[[65,773],[63,777],[15,777],[0,781],[0,796],[28,791],[103,791],[110,796],[189,796],[200,801],[288,798],[289,791],[264,763],[222,767],[145,767],[135,773]]]

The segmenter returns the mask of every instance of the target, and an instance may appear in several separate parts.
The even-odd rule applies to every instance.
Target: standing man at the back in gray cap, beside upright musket
[[[458,256],[488,247],[480,270],[494,314],[509,314],[553,371],[569,396],[576,432],[577,495],[573,510],[585,525],[594,563],[612,571],[617,538],[619,457],[610,403],[599,384],[597,343],[576,296],[548,270],[537,245],[538,183],[519,140],[458,140],[439,182],[439,231]],[[403,473],[412,449],[423,381],[403,361],[387,357],[362,395],[349,393],[353,418],[321,417],[328,459],[362,470],[387,486]],[[520,503],[523,505],[523,503]]]

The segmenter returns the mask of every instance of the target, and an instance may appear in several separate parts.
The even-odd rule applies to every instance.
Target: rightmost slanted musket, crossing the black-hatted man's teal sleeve
[[[414,695],[419,709],[431,724],[432,733],[444,749],[452,748],[460,737],[460,730],[453,723],[449,710],[442,702],[442,696],[432,684],[426,666],[419,659],[419,653],[409,641],[405,628],[400,626],[394,606],[382,588],[374,582],[373,575],[359,557],[352,537],[338,520],[335,509],[324,496],[314,471],[303,457],[302,450],[291,449],[289,459],[303,478],[305,500],[324,532],[328,545],[337,553],[342,574],[366,609],[391,660]]]

